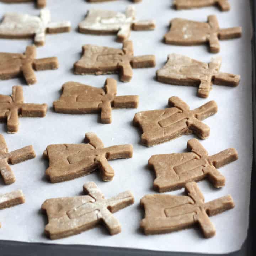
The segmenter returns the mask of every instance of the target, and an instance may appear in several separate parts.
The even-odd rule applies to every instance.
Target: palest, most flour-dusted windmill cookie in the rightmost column
[[[199,86],[197,95],[207,98],[212,84],[236,87],[240,82],[239,75],[219,72],[221,63],[221,57],[204,63],[173,53],[168,55],[164,67],[156,71],[156,79],[166,84]]]

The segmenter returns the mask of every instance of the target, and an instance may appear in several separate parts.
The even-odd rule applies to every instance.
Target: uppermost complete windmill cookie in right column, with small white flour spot
[[[208,16],[207,22],[196,22],[175,18],[170,21],[170,31],[165,34],[166,44],[190,46],[209,44],[210,52],[218,53],[219,40],[239,38],[242,35],[241,27],[220,29],[217,17]]]

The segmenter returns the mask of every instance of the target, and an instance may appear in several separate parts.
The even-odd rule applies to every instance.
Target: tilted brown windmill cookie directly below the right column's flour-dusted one
[[[154,146],[176,139],[181,135],[196,134],[200,139],[207,139],[210,127],[201,122],[217,113],[215,101],[209,101],[195,110],[178,97],[170,97],[169,108],[164,110],[142,111],[135,114],[133,124],[142,130],[141,143]]]

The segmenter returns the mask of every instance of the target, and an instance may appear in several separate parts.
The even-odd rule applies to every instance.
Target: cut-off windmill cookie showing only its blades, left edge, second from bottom
[[[9,164],[18,164],[36,157],[33,146],[26,146],[8,153],[4,136],[0,134],[0,174],[5,185],[15,182],[14,173]]]

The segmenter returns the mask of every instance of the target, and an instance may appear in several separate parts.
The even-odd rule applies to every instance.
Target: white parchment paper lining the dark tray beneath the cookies
[[[60,5],[61,2],[61,5]],[[11,166],[16,182],[5,186],[0,179],[0,193],[22,189],[26,203],[0,211],[0,240],[16,240],[26,242],[52,243],[44,236],[43,230],[47,218],[41,213],[40,207],[45,199],[53,197],[77,196],[82,192],[85,182],[94,181],[105,196],[111,197],[124,190],[132,190],[135,203],[114,215],[122,225],[122,233],[110,236],[104,227],[69,238],[55,240],[58,244],[84,244],[98,246],[128,247],[159,251],[183,251],[202,253],[228,253],[239,250],[247,234],[250,202],[250,179],[252,165],[252,102],[251,102],[251,18],[249,1],[230,0],[231,11],[220,12],[215,7],[203,9],[176,11],[171,8],[171,0],[143,0],[136,4],[139,19],[155,18],[155,31],[132,31],[130,39],[134,43],[135,55],[155,54],[155,68],[134,69],[133,79],[129,83],[119,82],[117,75],[80,76],[72,73],[73,63],[81,55],[83,44],[98,44],[121,48],[122,44],[115,42],[115,36],[90,36],[80,34],[76,27],[85,17],[90,8],[101,8],[124,11],[129,1],[120,0],[101,4],[89,4],[84,0],[48,0],[48,8],[52,20],[70,20],[70,33],[48,35],[46,45],[37,49],[37,57],[57,56],[60,68],[55,71],[37,72],[36,85],[27,86],[23,79],[12,79],[0,82],[0,93],[9,95],[14,85],[23,85],[25,101],[28,103],[47,103],[49,110],[45,118],[20,118],[20,129],[17,134],[7,134],[6,125],[0,125],[0,133],[6,139],[9,150],[15,150],[32,144],[37,158]],[[19,11],[38,15],[39,10],[34,4],[0,3],[0,16],[5,12]],[[201,61],[209,62],[216,54],[210,54],[206,46],[181,47],[162,43],[162,37],[168,31],[169,20],[174,17],[188,18],[196,21],[206,21],[207,15],[215,14],[221,28],[242,26],[243,36],[240,39],[220,41],[222,68],[220,71],[240,74],[241,82],[237,88],[213,86],[208,99],[196,96],[195,87],[172,86],[161,84],[155,79],[155,71],[161,68],[170,53],[188,55]],[[0,40],[2,52],[25,51],[31,40]],[[68,81],[81,82],[87,85],[102,87],[107,77],[118,80],[118,95],[139,95],[140,104],[137,110],[113,110],[112,124],[101,124],[97,114],[64,115],[53,111],[52,102],[60,96],[62,84]],[[148,159],[154,154],[180,153],[186,149],[187,140],[194,135],[182,136],[176,140],[146,148],[140,145],[141,133],[132,125],[136,112],[165,108],[168,98],[178,96],[191,109],[215,100],[218,113],[207,118],[204,123],[211,127],[211,134],[202,145],[215,154],[229,147],[235,147],[239,160],[224,166],[220,172],[226,177],[226,186],[215,189],[207,181],[198,183],[206,201],[231,194],[236,207],[210,219],[214,223],[217,234],[211,239],[204,239],[201,231],[191,228],[163,235],[145,236],[139,230],[140,220],[144,217],[139,207],[140,198],[145,194],[156,193],[152,189],[154,173],[147,167]],[[132,159],[110,161],[115,170],[111,182],[101,181],[97,172],[73,181],[51,184],[44,177],[48,162],[42,154],[49,144],[81,143],[86,132],[95,132],[105,146],[117,144],[133,144]],[[182,194],[183,190],[167,192],[167,194]]]

